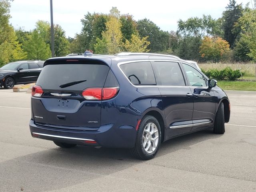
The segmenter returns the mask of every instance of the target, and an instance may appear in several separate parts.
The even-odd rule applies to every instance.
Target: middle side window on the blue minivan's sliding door
[[[185,86],[185,81],[177,62],[153,61],[152,66],[157,85]]]

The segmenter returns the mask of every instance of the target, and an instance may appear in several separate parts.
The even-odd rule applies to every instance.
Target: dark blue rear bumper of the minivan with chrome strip
[[[29,122],[31,135],[51,141],[113,148],[133,148],[136,130],[132,126],[115,127],[114,124],[100,126],[96,131],[64,130],[39,126]]]

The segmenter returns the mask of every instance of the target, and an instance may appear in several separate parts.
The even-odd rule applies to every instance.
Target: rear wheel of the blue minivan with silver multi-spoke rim
[[[156,156],[161,144],[161,128],[154,116],[146,115],[140,121],[136,142],[131,152],[134,157],[149,160]]]

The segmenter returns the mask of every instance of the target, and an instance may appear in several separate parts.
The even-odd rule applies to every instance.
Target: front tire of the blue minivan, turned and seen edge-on
[[[224,134],[225,132],[224,104],[222,102],[216,112],[213,131],[216,134]]]

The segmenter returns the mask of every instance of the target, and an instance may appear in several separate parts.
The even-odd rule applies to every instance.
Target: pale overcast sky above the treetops
[[[81,19],[87,12],[109,13],[117,7],[121,14],[131,14],[135,20],[147,18],[164,31],[177,30],[177,21],[210,14],[221,17],[229,0],[52,0],[53,22],[60,24],[66,36],[74,37],[82,29]],[[244,6],[250,0],[236,0]],[[50,22],[50,0],[14,0],[11,2],[10,23],[14,28],[32,30],[38,20]]]

